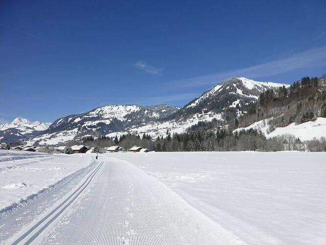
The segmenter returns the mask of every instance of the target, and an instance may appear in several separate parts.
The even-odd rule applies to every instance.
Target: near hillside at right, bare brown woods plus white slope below
[[[291,134],[301,141],[326,137],[326,77],[303,77],[287,89],[263,93],[239,128],[262,131],[267,138]]]

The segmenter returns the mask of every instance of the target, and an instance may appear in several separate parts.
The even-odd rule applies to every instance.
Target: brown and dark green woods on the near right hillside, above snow
[[[303,77],[288,88],[283,86],[276,90],[267,90],[234,124],[246,127],[256,121],[270,118],[269,131],[273,131],[277,126],[326,117],[325,85],[325,78]]]

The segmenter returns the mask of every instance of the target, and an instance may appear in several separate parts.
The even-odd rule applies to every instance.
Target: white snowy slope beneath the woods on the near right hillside
[[[285,127],[277,127],[272,132],[269,132],[270,125],[268,122],[270,120],[271,119],[263,119],[249,125],[248,127],[237,128],[234,131],[240,131],[242,129],[248,130],[253,128],[263,132],[267,138],[284,134],[292,134],[301,141],[326,137],[326,118],[317,118],[315,121],[309,121],[297,125],[295,123],[291,123]]]

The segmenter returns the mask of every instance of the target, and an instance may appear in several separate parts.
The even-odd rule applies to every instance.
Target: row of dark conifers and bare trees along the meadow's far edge
[[[140,146],[155,151],[279,151],[303,150],[305,145],[293,135],[283,135],[266,139],[263,133],[255,129],[241,130],[239,132],[220,130],[188,131],[185,133],[168,133],[165,138],[158,137],[153,140],[149,135],[142,137],[134,134],[124,134],[119,138],[99,137],[97,139],[85,138],[84,144],[91,147],[119,145],[125,149]]]

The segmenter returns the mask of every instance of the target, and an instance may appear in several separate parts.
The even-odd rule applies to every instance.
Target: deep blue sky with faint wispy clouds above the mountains
[[[0,122],[326,73],[325,0],[0,2]]]

